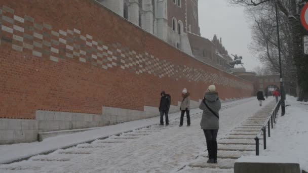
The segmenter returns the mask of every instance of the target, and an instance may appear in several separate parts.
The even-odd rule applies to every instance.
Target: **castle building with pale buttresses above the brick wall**
[[[186,54],[224,71],[230,68],[230,57],[221,55],[209,39],[201,36],[198,0],[97,1]]]

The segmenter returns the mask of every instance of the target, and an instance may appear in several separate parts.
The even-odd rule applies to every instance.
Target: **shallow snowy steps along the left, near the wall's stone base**
[[[191,119],[200,119],[202,113],[195,113],[191,114],[190,116]],[[186,118],[184,118],[184,121],[186,121]],[[44,162],[44,164],[53,164],[57,161],[68,162],[71,160],[71,158],[95,154],[97,150],[110,150],[112,148],[114,149],[118,147],[118,145],[123,145],[128,141],[138,140],[140,138],[162,132],[165,129],[178,126],[179,124],[180,118],[175,118],[170,120],[168,126],[153,124],[146,127],[137,128],[125,133],[111,135],[103,139],[97,139],[89,143],[82,143],[73,147],[58,149],[51,153],[35,155],[30,157],[28,161],[25,161],[27,163],[16,162],[12,164],[0,165],[0,172],[37,172],[39,170],[39,167],[32,166],[33,164],[41,164],[42,162]]]

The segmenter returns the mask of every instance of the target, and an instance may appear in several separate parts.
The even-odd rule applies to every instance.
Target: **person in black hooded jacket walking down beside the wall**
[[[166,94],[164,91],[161,93],[161,103],[159,107],[159,111],[161,114],[161,124],[164,125],[164,114],[165,114],[165,119],[166,119],[166,125],[169,125],[169,118],[168,118],[168,112],[170,109],[170,104],[171,104],[171,97],[169,94]]]

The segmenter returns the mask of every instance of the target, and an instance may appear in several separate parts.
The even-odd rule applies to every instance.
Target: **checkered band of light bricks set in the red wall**
[[[29,49],[32,50],[32,55],[54,62],[76,59],[105,70],[121,68],[137,75],[146,73],[160,78],[169,77],[174,80],[206,82],[252,90],[251,85],[221,74],[186,65],[175,65],[147,52],[137,53],[117,42],[103,45],[102,40],[82,33],[79,29],[62,28],[56,31],[48,23],[35,23],[35,19],[30,16],[14,15],[14,18],[10,18],[3,11],[13,14],[15,11],[5,6],[0,7],[0,37],[1,41],[12,44],[12,49],[16,51],[23,52]],[[6,33],[3,34],[4,32]]]

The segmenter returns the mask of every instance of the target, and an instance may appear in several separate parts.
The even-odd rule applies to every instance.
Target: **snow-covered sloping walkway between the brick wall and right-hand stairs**
[[[271,101],[273,98],[268,98],[263,105]],[[256,98],[226,102],[222,106],[218,139],[262,108]],[[174,113],[170,115],[169,126],[155,125],[159,121],[156,117],[53,137],[40,143],[3,145],[0,146],[0,162],[108,137],[58,149],[48,155],[33,156],[29,160],[2,164],[0,172],[176,172],[206,150],[200,129],[202,112],[194,109],[191,114],[190,127],[185,126],[185,122],[179,127],[179,113]],[[194,172],[198,169],[202,171],[196,168]]]

